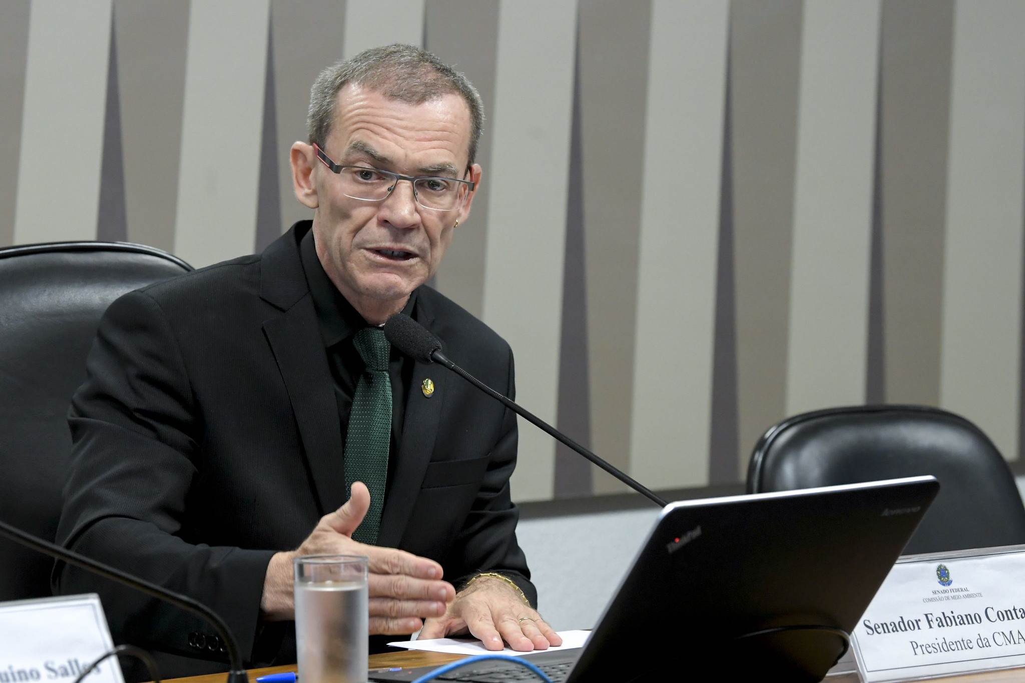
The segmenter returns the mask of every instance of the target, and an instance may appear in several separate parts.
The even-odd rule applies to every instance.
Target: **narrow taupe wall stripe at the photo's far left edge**
[[[29,49],[29,0],[8,2],[0,22],[0,247],[14,240],[17,155]]]

